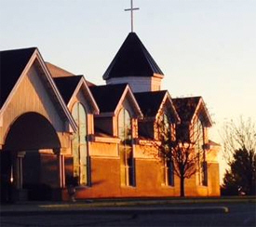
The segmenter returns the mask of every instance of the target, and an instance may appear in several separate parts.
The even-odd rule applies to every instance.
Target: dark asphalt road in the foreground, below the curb
[[[191,207],[216,207],[214,205],[186,205]],[[229,208],[228,213],[195,214],[47,214],[1,217],[1,227],[78,227],[78,226],[256,226],[254,203],[222,204]],[[169,205],[153,208],[173,207]],[[176,206],[177,207],[177,206]],[[179,205],[178,207],[184,207]],[[147,207],[145,207],[146,209]],[[151,207],[152,208],[152,207]]]

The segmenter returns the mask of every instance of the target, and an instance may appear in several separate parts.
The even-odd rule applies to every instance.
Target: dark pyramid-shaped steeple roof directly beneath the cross
[[[164,74],[136,33],[128,33],[114,60],[103,74],[103,79],[125,76],[153,76]]]

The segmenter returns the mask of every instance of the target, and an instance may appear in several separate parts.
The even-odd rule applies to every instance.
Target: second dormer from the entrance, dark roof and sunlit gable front
[[[95,115],[95,131],[100,135],[118,137],[118,117],[120,113],[128,113],[133,122],[133,138],[137,137],[137,119],[141,118],[141,109],[129,86],[107,85],[90,87],[96,100],[100,114]],[[124,111],[125,110],[125,111]]]

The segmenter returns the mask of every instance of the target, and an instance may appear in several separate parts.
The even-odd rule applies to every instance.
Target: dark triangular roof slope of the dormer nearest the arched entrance
[[[74,94],[74,90],[82,77],[83,75],[71,75],[53,78],[56,86],[61,92],[62,99],[65,101],[66,104],[68,104],[69,100]]]

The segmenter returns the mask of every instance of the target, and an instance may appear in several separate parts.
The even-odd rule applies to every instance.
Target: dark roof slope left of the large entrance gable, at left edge
[[[0,108],[20,78],[36,47],[0,51]]]

